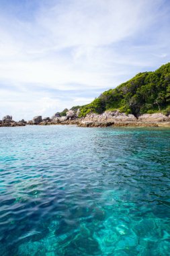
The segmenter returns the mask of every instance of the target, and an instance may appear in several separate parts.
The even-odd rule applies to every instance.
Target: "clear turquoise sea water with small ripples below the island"
[[[0,255],[170,255],[170,129],[1,127]]]

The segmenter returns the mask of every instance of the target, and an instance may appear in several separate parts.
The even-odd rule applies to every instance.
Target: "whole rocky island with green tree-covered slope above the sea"
[[[25,125],[170,127],[170,63],[156,71],[138,73],[90,104],[65,108],[52,117],[16,122],[7,115],[0,121],[0,127]]]

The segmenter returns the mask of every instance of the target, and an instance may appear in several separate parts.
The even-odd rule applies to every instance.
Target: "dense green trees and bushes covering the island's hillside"
[[[170,63],[153,72],[138,73],[128,82],[103,92],[99,98],[79,108],[79,117],[112,109],[135,116],[160,111],[170,113]]]

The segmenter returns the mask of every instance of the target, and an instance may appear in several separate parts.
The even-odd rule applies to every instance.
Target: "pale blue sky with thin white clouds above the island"
[[[169,59],[169,0],[0,0],[0,119],[88,104]]]

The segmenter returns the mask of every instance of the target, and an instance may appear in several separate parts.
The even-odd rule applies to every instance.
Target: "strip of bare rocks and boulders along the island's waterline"
[[[79,127],[170,127],[170,115],[162,113],[144,114],[139,117],[120,113],[119,110],[107,111],[101,115],[95,113],[79,118],[79,110],[75,113],[69,110],[65,117],[60,117],[58,113],[50,117],[36,116],[31,121],[15,122],[7,115],[0,121],[0,127],[15,127],[25,125],[78,125]]]

